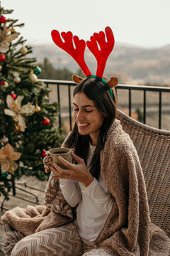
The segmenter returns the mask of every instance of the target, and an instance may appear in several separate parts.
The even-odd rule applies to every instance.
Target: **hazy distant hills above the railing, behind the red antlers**
[[[170,45],[160,48],[140,48],[125,43],[115,43],[104,75],[108,78],[117,76],[119,83],[170,86],[169,53]],[[79,70],[73,58],[55,44],[33,46],[33,55],[38,59],[38,63],[42,63],[44,58],[47,58],[56,69],[67,68],[73,73]],[[91,73],[95,74],[96,58],[89,49],[86,50],[85,60]]]

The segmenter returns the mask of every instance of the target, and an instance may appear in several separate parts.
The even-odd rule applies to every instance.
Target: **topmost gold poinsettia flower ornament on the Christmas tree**
[[[9,50],[9,44],[14,39],[18,38],[20,33],[11,33],[8,35],[9,32],[12,32],[12,28],[7,28],[4,26],[3,30],[0,30],[0,52],[6,53]]]

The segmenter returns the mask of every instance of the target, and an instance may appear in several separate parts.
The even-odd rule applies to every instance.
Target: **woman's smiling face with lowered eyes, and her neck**
[[[84,92],[78,92],[74,96],[73,105],[73,117],[77,122],[79,134],[89,134],[92,144],[96,145],[103,124],[103,114],[97,110],[94,101],[90,100]]]

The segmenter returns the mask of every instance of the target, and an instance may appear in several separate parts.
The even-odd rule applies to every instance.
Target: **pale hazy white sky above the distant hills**
[[[115,41],[136,46],[170,44],[170,0],[1,0],[28,43],[52,43],[50,32],[72,31],[88,40],[111,26]]]

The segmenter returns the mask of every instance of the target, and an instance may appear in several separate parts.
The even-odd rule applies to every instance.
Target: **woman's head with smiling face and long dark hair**
[[[91,174],[99,178],[100,152],[106,141],[108,129],[116,115],[116,96],[111,99],[106,85],[97,78],[86,78],[74,89],[73,117],[75,125],[72,135],[67,140],[67,146],[75,142],[74,153],[82,159],[87,159],[89,143],[96,146],[91,159]],[[88,106],[88,107],[87,107]]]

